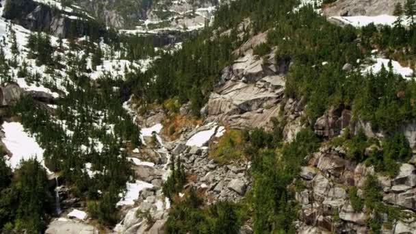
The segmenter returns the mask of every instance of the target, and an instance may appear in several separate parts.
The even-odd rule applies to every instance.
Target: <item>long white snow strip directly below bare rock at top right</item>
[[[393,25],[396,21],[397,16],[390,16],[387,14],[382,14],[378,16],[333,16],[337,21],[352,25],[354,27],[364,27],[370,23],[375,25]],[[404,22],[406,24],[406,22]]]

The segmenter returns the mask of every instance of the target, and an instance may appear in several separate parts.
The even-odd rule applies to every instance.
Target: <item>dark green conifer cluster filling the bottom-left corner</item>
[[[47,224],[52,196],[47,173],[36,159],[21,161],[12,175],[0,158],[0,230],[39,233]]]

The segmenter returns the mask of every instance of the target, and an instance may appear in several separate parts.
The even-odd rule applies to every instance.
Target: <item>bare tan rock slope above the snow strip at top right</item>
[[[380,14],[393,15],[396,3],[404,5],[405,0],[339,0],[323,8],[326,16],[378,16]]]

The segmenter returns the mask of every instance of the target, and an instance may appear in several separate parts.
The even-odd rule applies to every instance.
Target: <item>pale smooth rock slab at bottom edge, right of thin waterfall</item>
[[[74,220],[53,220],[45,234],[99,234],[99,229]]]

